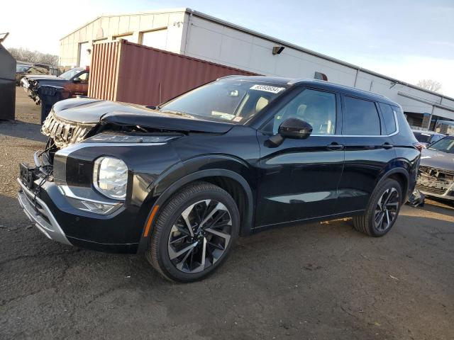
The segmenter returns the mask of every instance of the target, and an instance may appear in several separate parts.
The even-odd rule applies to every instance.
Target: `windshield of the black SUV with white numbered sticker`
[[[243,124],[287,87],[282,84],[222,79],[189,91],[163,104],[159,110]]]

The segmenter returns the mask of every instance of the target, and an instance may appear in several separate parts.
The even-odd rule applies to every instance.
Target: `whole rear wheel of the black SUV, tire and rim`
[[[353,226],[372,237],[382,237],[392,228],[402,205],[402,187],[385,179],[375,188],[364,215],[353,217]]]

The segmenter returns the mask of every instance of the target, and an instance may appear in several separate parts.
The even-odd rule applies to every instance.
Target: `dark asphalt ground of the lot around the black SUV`
[[[16,200],[43,147],[17,92],[0,123],[0,339],[454,339],[454,205],[405,206],[386,237],[350,220],[240,239],[217,273],[172,284],[144,256],[52,242]]]

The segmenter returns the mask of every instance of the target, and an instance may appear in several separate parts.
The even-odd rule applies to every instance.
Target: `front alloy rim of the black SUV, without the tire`
[[[226,205],[200,200],[184,209],[170,230],[168,254],[184,273],[199,273],[212,266],[227,249],[232,219]]]

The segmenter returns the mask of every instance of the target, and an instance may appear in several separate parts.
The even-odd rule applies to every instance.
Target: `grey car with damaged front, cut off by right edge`
[[[454,201],[453,136],[423,149],[416,188],[426,196]]]

